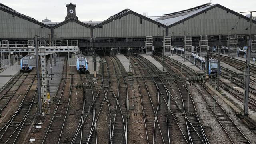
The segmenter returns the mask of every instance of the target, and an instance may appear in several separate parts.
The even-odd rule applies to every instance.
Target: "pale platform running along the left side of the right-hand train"
[[[194,64],[192,64],[190,61],[186,60],[185,62],[183,62],[183,60],[184,60],[183,57],[178,56],[176,54],[173,54],[173,56],[168,56],[168,57],[171,58],[172,60],[179,62],[180,64],[188,66],[191,70],[193,70],[194,73],[196,73],[198,75],[204,75],[204,72],[202,70],[200,70],[200,68],[198,68]]]

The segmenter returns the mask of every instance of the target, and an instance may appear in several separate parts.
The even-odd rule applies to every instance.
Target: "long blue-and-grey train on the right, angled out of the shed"
[[[174,48],[174,53],[183,56],[183,48]],[[186,56],[186,59],[194,64],[196,67],[200,68],[200,70],[206,70],[206,62],[205,58],[199,56],[199,54],[195,51],[192,52],[190,56]],[[209,75],[216,75],[218,70],[218,60],[215,58],[209,58]]]

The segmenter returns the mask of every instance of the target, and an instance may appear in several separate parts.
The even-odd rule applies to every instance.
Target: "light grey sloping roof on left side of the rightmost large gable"
[[[162,16],[162,17],[156,19],[156,21],[169,26],[171,24],[174,24],[174,23],[176,23],[180,20],[183,20],[183,19],[186,19],[190,16],[193,16],[194,14],[202,12],[203,10],[206,10],[206,9],[212,7],[212,6],[215,6],[215,5],[216,4],[212,4],[210,6],[205,6],[205,7],[202,7],[202,8],[196,9],[196,10],[192,10],[192,11],[189,11],[189,12],[183,12],[183,13],[178,13],[178,14],[171,13],[172,15]]]

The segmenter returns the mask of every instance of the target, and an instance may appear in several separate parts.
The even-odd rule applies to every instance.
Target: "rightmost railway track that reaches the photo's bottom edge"
[[[178,66],[178,64],[176,64],[176,62],[173,62],[173,61],[171,62],[168,57],[166,57],[166,58],[169,63],[173,63],[176,66]],[[186,71],[186,74],[187,74],[186,76],[188,76],[189,74],[191,74],[191,72],[190,72],[190,70],[186,70],[186,69],[189,69],[189,68],[186,68],[186,67],[183,68],[183,70]],[[220,106],[220,104],[216,101],[216,99],[211,94],[211,92],[208,90],[208,88],[206,88],[204,86],[204,84],[202,84],[202,83],[193,84],[193,85],[196,87],[198,92],[204,97],[204,100],[205,100],[207,106],[211,110],[211,113],[214,114],[214,116],[216,117],[216,119],[218,120],[220,125],[222,126],[222,129],[227,134],[230,142],[232,142],[233,144],[235,144],[235,143],[250,143],[249,140],[246,138],[246,136],[242,133],[242,131],[238,128],[238,126],[236,126],[236,124],[230,118],[230,116],[228,116],[228,114],[222,108],[222,106]],[[201,90],[199,90],[200,86],[198,86],[198,85],[201,86],[201,90],[204,90],[203,92],[201,92]],[[204,94],[206,94],[206,93],[209,96],[204,96]]]

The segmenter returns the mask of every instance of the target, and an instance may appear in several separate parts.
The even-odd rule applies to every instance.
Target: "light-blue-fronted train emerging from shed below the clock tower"
[[[81,52],[76,52],[76,70],[78,72],[88,71],[88,61]]]

